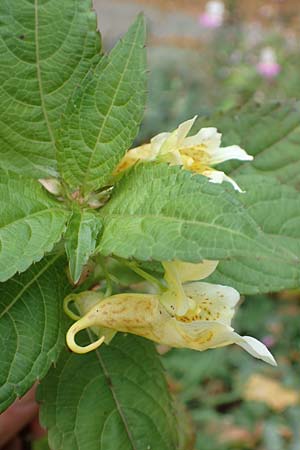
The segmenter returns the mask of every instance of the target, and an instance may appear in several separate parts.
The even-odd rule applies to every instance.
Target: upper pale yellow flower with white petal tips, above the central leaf
[[[149,144],[129,150],[114,174],[128,169],[137,161],[161,161],[205,175],[212,183],[228,181],[242,192],[234,180],[212,167],[230,159],[251,161],[253,156],[238,145],[221,147],[222,134],[216,128],[201,128],[194,136],[187,137],[195,120],[196,116],[183,122],[175,131],[158,134]]]

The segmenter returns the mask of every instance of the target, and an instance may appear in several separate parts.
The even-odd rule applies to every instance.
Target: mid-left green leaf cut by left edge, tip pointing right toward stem
[[[53,248],[70,212],[36,180],[2,171],[0,209],[0,281],[5,281]]]

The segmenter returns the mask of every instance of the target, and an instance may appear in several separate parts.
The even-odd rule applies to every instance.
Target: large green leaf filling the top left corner
[[[100,51],[91,0],[1,0],[0,165],[55,175],[65,103]]]

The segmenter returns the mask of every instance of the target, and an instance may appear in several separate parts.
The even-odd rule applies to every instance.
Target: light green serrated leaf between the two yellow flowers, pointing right
[[[251,257],[255,251],[255,258],[272,257],[240,195],[179,167],[139,165],[123,176],[101,210],[99,250],[159,261]]]

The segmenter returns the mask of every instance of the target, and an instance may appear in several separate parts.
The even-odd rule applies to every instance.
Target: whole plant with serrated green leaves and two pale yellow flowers
[[[276,366],[231,321],[299,287],[299,104],[137,146],[142,15],[107,54],[91,0],[2,0],[0,35],[1,411],[38,380],[54,450],[180,448],[157,344]]]

